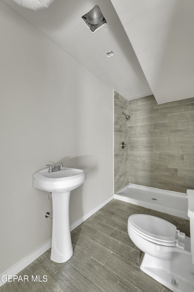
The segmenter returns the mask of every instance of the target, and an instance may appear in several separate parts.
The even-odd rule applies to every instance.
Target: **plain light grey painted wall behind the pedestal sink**
[[[84,169],[70,223],[113,194],[113,92],[0,1],[0,274],[52,236],[47,193],[33,174]]]

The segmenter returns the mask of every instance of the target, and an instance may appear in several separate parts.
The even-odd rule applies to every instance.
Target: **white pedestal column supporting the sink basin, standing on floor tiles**
[[[70,193],[52,193],[51,260],[53,262],[66,262],[73,254],[69,226]]]

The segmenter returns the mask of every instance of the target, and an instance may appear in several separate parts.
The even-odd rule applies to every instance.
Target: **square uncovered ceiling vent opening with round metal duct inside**
[[[95,5],[89,12],[83,15],[82,19],[92,33],[104,24],[108,25],[98,5]]]

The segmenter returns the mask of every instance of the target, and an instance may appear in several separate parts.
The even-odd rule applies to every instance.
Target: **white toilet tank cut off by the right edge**
[[[194,264],[194,190],[187,190],[188,199],[188,216],[190,220],[190,237],[191,237],[191,256],[192,263]]]

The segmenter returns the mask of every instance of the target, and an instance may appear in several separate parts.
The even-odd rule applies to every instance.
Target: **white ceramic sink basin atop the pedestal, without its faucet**
[[[86,178],[81,169],[62,167],[59,171],[49,172],[49,168],[34,174],[34,187],[50,193],[66,193],[80,186]]]

